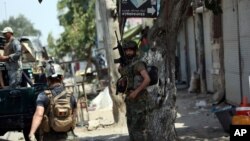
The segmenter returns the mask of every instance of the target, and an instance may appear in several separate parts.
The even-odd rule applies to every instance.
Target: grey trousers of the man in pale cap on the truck
[[[21,83],[22,70],[8,70],[9,86],[12,88],[17,87]]]

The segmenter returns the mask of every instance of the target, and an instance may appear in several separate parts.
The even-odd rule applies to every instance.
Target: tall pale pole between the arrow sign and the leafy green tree
[[[114,59],[120,57],[117,50],[113,50],[117,46],[115,31],[119,40],[120,29],[118,23],[118,14],[116,13],[116,0],[97,0],[96,1],[96,26],[99,47],[104,47],[106,52],[109,76],[109,93],[113,101],[113,116],[117,124],[124,123],[125,104],[121,96],[116,96],[116,81],[119,78],[118,64],[114,64]],[[99,31],[98,31],[99,30]]]

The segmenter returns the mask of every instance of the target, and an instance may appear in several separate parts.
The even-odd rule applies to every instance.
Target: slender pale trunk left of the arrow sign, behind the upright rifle
[[[115,6],[115,2],[110,0],[99,0],[100,16],[103,20],[104,45],[107,55],[108,75],[109,75],[109,93],[113,101],[113,115],[116,124],[125,122],[125,103],[121,95],[116,95],[116,80],[119,77],[118,65],[114,64],[114,59],[119,58],[117,50],[113,48],[117,45],[115,31],[119,33],[117,19],[113,19],[110,10]]]

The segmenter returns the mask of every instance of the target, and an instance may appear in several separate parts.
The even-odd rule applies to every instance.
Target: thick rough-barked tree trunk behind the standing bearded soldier
[[[175,132],[175,49],[178,31],[191,0],[162,0],[160,15],[149,32],[149,64],[158,66],[159,83],[149,88],[151,107],[149,131],[155,141],[177,140]],[[164,65],[162,65],[164,64]]]

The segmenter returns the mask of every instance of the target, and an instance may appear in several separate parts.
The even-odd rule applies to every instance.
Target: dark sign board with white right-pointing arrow
[[[121,0],[122,17],[157,17],[157,0]]]

